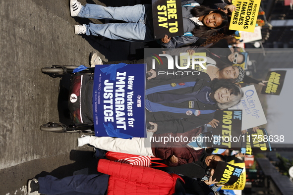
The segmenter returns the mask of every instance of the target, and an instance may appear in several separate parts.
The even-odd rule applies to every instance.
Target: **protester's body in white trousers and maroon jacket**
[[[186,136],[187,142],[173,142],[172,140],[156,142],[156,137],[166,136],[165,134],[154,134],[150,138],[132,138],[120,139],[111,137],[82,136],[78,138],[78,146],[89,144],[100,149],[114,152],[128,153],[143,156],[156,156],[164,159],[168,166],[179,166],[182,164],[197,161],[199,156],[204,152],[202,148],[194,148],[188,144],[193,141],[193,137],[201,133],[201,127],[184,134],[172,134],[170,136]],[[146,142],[151,142],[151,147]]]

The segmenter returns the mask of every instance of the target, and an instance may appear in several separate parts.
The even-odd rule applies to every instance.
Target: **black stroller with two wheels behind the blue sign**
[[[61,77],[65,74],[72,74],[69,88],[68,108],[73,125],[49,122],[41,125],[42,131],[56,133],[89,133],[95,134],[93,125],[93,78],[94,68],[87,68],[78,73],[73,70],[78,66],[59,66],[42,68],[42,72],[52,77]]]

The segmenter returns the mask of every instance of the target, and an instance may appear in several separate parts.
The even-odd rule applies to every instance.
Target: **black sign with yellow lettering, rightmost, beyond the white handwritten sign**
[[[270,71],[267,74],[266,86],[262,87],[261,94],[277,95],[279,96],[284,84],[286,70]]]

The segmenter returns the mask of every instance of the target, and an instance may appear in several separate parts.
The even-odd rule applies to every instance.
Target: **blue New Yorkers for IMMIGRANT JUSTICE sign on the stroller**
[[[145,77],[146,64],[95,67],[93,111],[96,136],[145,137]]]

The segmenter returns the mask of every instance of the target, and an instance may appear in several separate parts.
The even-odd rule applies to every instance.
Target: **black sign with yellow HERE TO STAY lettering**
[[[184,34],[180,0],[152,0],[152,11],[155,39]]]

